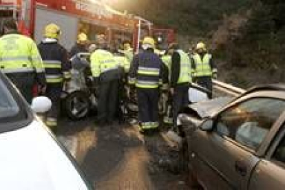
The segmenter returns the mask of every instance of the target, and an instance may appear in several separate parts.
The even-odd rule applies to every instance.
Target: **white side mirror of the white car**
[[[36,114],[44,114],[52,107],[52,101],[46,96],[38,96],[32,99],[31,108]]]

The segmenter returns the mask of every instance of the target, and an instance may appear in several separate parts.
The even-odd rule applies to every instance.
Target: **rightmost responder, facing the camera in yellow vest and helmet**
[[[203,42],[199,42],[196,45],[196,53],[192,56],[192,67],[194,70],[193,81],[209,89],[209,98],[211,98],[213,90],[212,78],[217,77],[217,69],[211,54],[207,52],[206,45]]]

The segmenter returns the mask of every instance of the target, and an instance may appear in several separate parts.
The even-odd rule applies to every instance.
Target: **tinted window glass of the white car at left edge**
[[[0,120],[19,113],[19,106],[7,87],[0,81]]]

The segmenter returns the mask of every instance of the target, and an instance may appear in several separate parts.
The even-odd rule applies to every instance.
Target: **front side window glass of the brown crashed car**
[[[257,149],[284,109],[285,101],[253,98],[222,112],[215,131],[246,147]]]

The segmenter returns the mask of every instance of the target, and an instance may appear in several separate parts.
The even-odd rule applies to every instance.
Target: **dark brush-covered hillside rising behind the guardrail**
[[[197,38],[207,41],[214,48],[222,81],[240,87],[285,83],[284,0],[116,2],[112,6],[119,10],[176,29],[186,45]]]

